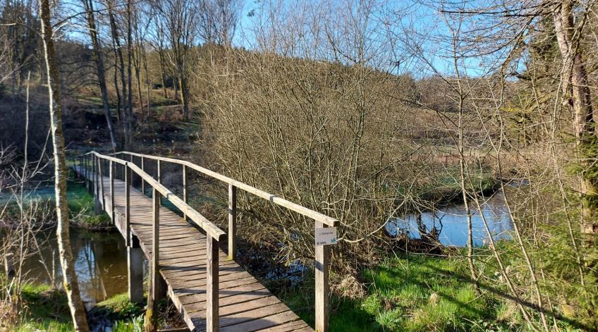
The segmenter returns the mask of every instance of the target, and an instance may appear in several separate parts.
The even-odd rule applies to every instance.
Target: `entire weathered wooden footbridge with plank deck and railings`
[[[148,163],[155,178],[145,172]],[[182,166],[182,197],[161,183],[165,163]],[[75,159],[73,169],[93,190],[97,208],[111,216],[125,238],[128,292],[134,302],[143,301],[142,255],[150,260],[146,315],[150,321],[155,321],[157,303],[167,293],[190,331],[313,331],[235,262],[237,190],[310,217],[315,228],[335,226],[335,219],[178,159],[89,152]],[[228,183],[228,233],[188,205],[190,171]],[[133,176],[140,179],[141,190],[131,185]],[[146,187],[151,188],[151,196],[145,195]],[[162,206],[162,197],[182,211],[183,217]],[[225,253],[219,245],[226,238]],[[328,246],[315,247],[317,331],[328,330],[328,250]]]

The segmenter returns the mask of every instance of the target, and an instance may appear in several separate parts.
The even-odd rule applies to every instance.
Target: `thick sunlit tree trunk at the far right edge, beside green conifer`
[[[587,73],[581,49],[573,39],[572,2],[563,1],[554,10],[554,27],[563,59],[562,92],[565,104],[573,111],[573,131],[581,172],[580,195],[582,200],[582,233],[587,242],[593,243],[598,235],[598,179],[587,173],[592,160],[597,159],[595,147],[598,140],[594,126],[592,96],[587,84]]]

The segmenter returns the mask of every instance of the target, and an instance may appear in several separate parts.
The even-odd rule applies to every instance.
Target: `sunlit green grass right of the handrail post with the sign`
[[[367,296],[331,299],[331,331],[496,331],[508,308],[490,295],[476,295],[462,259],[408,255],[387,259],[363,272]],[[312,293],[283,295],[287,304],[312,326]]]

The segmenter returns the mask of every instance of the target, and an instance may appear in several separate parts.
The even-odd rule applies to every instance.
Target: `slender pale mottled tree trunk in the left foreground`
[[[39,0],[39,17],[42,19],[42,44],[48,74],[48,107],[50,112],[52,147],[54,147],[54,188],[56,190],[56,216],[58,220],[56,237],[59,245],[63,286],[68,297],[68,307],[71,308],[75,330],[86,332],[90,328],[87,326],[85,307],[83,307],[83,301],[79,292],[73,253],[71,252],[71,240],[68,234],[68,205],[66,202],[67,170],[62,131],[62,100],[58,66],[56,64],[56,52],[54,51],[54,41],[52,40],[53,32],[50,21],[49,0]]]

